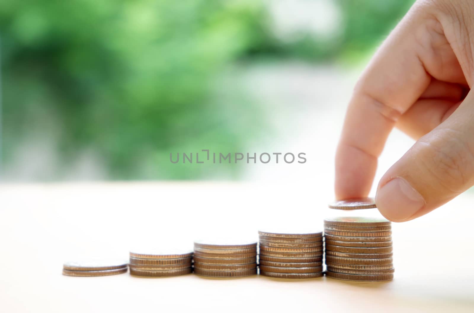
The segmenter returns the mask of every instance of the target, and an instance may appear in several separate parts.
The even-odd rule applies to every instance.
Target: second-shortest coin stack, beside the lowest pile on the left
[[[130,274],[169,277],[192,273],[192,251],[130,252]]]

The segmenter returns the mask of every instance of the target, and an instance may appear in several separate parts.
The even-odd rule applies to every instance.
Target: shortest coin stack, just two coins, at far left
[[[123,261],[66,262],[63,275],[67,276],[109,276],[127,273],[128,264]]]

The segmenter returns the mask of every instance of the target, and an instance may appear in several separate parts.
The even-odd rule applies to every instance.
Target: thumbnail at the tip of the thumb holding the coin
[[[380,213],[390,221],[406,221],[425,206],[425,200],[405,179],[395,177],[375,195]]]

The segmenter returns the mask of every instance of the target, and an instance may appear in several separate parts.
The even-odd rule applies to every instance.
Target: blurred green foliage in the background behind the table
[[[2,171],[15,179],[36,143],[55,164],[33,180],[68,177],[84,153],[107,179],[236,178],[236,166],[169,162],[265,132],[261,104],[223,77],[287,60],[356,65],[412,3],[2,0]]]

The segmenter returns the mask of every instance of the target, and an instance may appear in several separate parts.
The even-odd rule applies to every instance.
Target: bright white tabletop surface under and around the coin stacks
[[[127,258],[137,244],[192,247],[224,234],[257,240],[261,227],[322,229],[324,217],[346,214],[326,209],[333,199],[308,183],[4,184],[0,199],[2,312],[474,310],[472,192],[393,224],[388,283],[61,275],[65,261]]]

